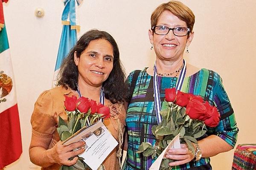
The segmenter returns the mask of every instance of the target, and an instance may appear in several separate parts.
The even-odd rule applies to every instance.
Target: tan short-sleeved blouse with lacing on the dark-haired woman
[[[49,149],[52,148],[60,139],[56,127],[58,127],[58,116],[61,116],[67,122],[67,115],[64,110],[65,95],[77,96],[78,94],[70,88],[65,89],[58,86],[49,91],[44,91],[35,102],[35,108],[31,116],[31,125],[33,135],[49,139]],[[111,117],[105,119],[104,124],[114,136],[116,141],[120,142],[121,133],[124,132],[126,106],[124,104],[107,105],[110,108]],[[121,129],[119,128],[121,127]],[[116,153],[119,150],[117,146],[103,162],[106,170],[119,170],[119,160]],[[59,164],[53,164],[41,170],[59,170]]]

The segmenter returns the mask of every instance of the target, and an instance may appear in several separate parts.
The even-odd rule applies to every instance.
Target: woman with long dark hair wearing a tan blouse
[[[64,146],[56,130],[58,116],[67,121],[64,110],[65,96],[84,96],[104,103],[110,108],[111,117],[104,124],[119,142],[103,162],[106,170],[120,169],[121,146],[124,131],[127,86],[119,58],[119,49],[113,37],[105,31],[86,32],[64,59],[58,77],[58,87],[44,91],[35,103],[31,117],[32,139],[30,160],[42,170],[58,170],[61,165],[73,165],[84,152],[84,142]],[[79,95],[80,94],[80,95]],[[73,151],[75,148],[81,149]]]

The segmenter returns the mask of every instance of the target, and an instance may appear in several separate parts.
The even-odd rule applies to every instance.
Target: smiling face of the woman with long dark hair
[[[78,81],[93,87],[100,87],[113,69],[113,46],[108,40],[90,41],[80,57],[74,54],[78,67]]]

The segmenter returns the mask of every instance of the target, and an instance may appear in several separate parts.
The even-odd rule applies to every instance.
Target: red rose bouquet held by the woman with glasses
[[[219,123],[220,116],[217,108],[204,102],[200,96],[181,91],[177,91],[176,94],[175,88],[166,89],[165,100],[168,106],[160,112],[162,122],[152,127],[152,133],[157,139],[155,146],[143,142],[137,153],[153,158],[159,156],[180,133],[180,142],[186,143],[189,150],[195,154],[192,142],[198,143],[196,139],[207,132],[207,127],[215,127]],[[171,159],[163,159],[160,169],[168,169],[171,161]]]

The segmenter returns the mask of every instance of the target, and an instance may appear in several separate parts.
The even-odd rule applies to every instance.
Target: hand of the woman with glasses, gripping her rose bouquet
[[[180,144],[180,147],[181,148],[178,149],[167,149],[165,157],[172,160],[176,160],[169,163],[169,166],[186,164],[187,162],[190,162],[192,161],[192,159],[194,159],[195,155],[189,150],[186,144]]]

